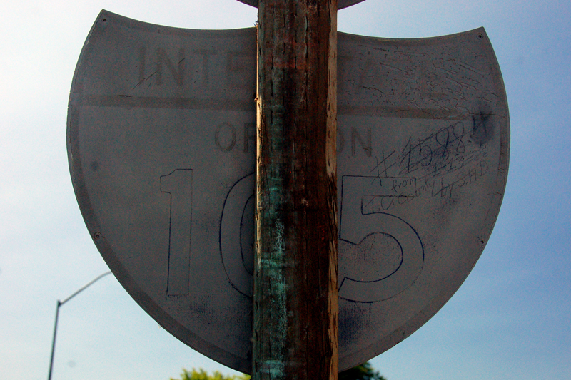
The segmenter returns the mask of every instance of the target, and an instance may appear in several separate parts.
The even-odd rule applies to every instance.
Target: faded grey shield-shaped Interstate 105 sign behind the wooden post
[[[505,189],[509,120],[485,31],[339,34],[340,369],[424,324],[468,276]],[[71,88],[71,178],[98,250],[169,332],[251,367],[254,29],[102,11]]]

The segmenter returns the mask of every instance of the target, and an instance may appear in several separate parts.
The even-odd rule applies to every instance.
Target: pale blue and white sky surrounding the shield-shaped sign
[[[253,26],[236,0],[4,1],[0,5],[0,379],[48,374],[56,300],[107,267],[84,226],[66,155],[69,88],[107,9],[192,29]],[[480,261],[411,337],[372,360],[388,380],[570,379],[571,4],[366,0],[339,30],[416,38],[484,26],[502,69],[510,173]],[[53,379],[233,373],[158,327],[111,276],[61,308]]]

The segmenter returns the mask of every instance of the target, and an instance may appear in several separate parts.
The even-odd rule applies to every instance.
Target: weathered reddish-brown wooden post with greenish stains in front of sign
[[[259,0],[253,379],[337,379],[337,1]]]

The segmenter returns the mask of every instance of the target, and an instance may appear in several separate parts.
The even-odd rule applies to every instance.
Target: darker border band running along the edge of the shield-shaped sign
[[[107,19],[113,19],[114,21],[121,22],[123,24],[128,24],[129,27],[133,29],[139,30],[148,30],[148,31],[156,31],[157,29],[161,30],[162,34],[176,34],[176,35],[184,35],[186,29],[177,29],[177,28],[170,28],[165,26],[156,26],[153,24],[143,23],[141,21],[135,21],[132,19],[127,19],[122,16],[111,14],[107,11],[101,11],[100,16],[98,17],[96,24],[91,29],[88,38],[86,39],[86,43],[84,48],[81,51],[81,55],[76,67],[76,72],[74,74],[74,80],[71,86],[71,95],[70,95],[70,102],[69,102],[69,113],[68,113],[68,130],[67,130],[67,143],[68,143],[68,155],[69,155],[69,165],[70,165],[70,172],[72,183],[74,185],[74,191],[76,192],[76,197],[79,202],[81,213],[84,217],[88,230],[93,238],[98,250],[103,255],[104,260],[108,264],[108,266],[112,269],[113,274],[117,277],[118,281],[122,284],[122,286],[128,291],[128,293],[133,297],[133,299],[138,302],[138,304],[143,307],[143,309],[150,314],[153,319],[161,324],[168,332],[171,332],[175,337],[180,339],[182,342],[188,344],[193,349],[206,354],[206,356],[215,359],[216,361],[220,361],[222,364],[230,366],[233,369],[237,369],[239,371],[243,371],[248,373],[251,370],[251,363],[248,360],[244,360],[243,358],[233,355],[221,347],[216,346],[215,344],[211,344],[211,342],[206,341],[205,339],[199,337],[194,332],[191,332],[189,329],[183,326],[180,322],[176,321],[173,317],[171,317],[167,312],[165,312],[160,305],[158,305],[151,297],[146,294],[141,287],[137,284],[135,279],[131,276],[120,260],[117,259],[116,254],[113,251],[113,247],[111,244],[106,240],[104,234],[101,232],[101,226],[99,221],[96,219],[94,215],[93,205],[91,205],[91,198],[89,196],[89,192],[86,188],[84,183],[84,168],[82,167],[81,163],[81,151],[79,150],[79,129],[78,129],[78,120],[79,120],[79,98],[81,98],[82,92],[82,83],[79,83],[78,75],[79,73],[84,70],[83,66],[86,61],[89,61],[89,54],[90,48],[93,45],[94,41],[98,38],[98,36],[94,33],[96,30],[96,25],[99,22],[106,22]],[[236,33],[236,34],[253,34],[252,29],[238,29],[233,31],[201,31],[205,34],[224,34],[224,33]],[[475,31],[464,32],[461,34],[454,34],[450,36],[440,36],[440,37],[433,37],[433,38],[415,38],[415,39],[388,39],[388,38],[373,38],[373,37],[363,37],[363,36],[353,36],[347,34],[340,34],[342,38],[345,38],[345,41],[367,41],[368,43],[375,43],[375,41],[384,41],[388,42],[391,41],[393,43],[400,43],[403,46],[405,45],[423,45],[423,44],[438,44],[442,43],[443,41],[452,41],[455,38],[460,38],[461,36],[465,36],[466,34],[477,34],[478,38],[484,38],[487,40],[487,36],[485,34],[484,29],[477,29]],[[484,218],[484,224],[482,226],[482,235],[480,236],[482,241],[482,246],[480,252],[475,255],[475,260],[471,267],[475,265],[477,258],[480,256],[482,250],[485,247],[485,243],[487,242],[490,234],[492,232],[493,225],[497,220],[497,215],[500,210],[500,205],[502,202],[503,192],[505,191],[505,185],[507,180],[507,168],[509,165],[509,135],[510,135],[510,126],[509,126],[509,116],[507,113],[507,100],[505,96],[505,88],[502,82],[502,77],[500,73],[500,68],[497,64],[495,59],[495,54],[493,53],[492,46],[490,43],[485,44],[485,53],[489,56],[493,57],[492,59],[492,67],[490,71],[494,73],[492,77],[495,79],[496,83],[494,83],[493,88],[497,91],[497,99],[498,99],[498,106],[497,109],[500,110],[502,115],[500,116],[500,157],[499,157],[499,166],[497,170],[497,179],[495,181],[495,189],[493,189],[493,196],[491,197],[492,202],[490,204],[489,209],[487,210],[487,214]],[[341,107],[342,108],[342,107]],[[471,268],[470,268],[471,270]],[[468,276],[470,271],[466,274],[465,277]],[[410,334],[415,332],[420,326],[422,326],[425,322],[428,322],[428,319],[433,317],[433,315],[438,312],[438,310],[443,307],[445,302],[448,302],[448,299],[452,297],[452,295],[458,290],[460,285],[463,283],[465,277],[463,277],[459,282],[456,283],[456,287],[454,289],[443,289],[437,297],[433,297],[431,301],[425,305],[424,309],[420,312],[415,314],[415,317],[409,319],[408,321],[404,322],[400,327],[394,329],[393,333],[388,334],[388,336],[383,337],[375,342],[375,344],[365,347],[358,352],[353,352],[351,354],[345,355],[343,357],[340,356],[340,370],[349,368],[350,366],[354,366],[360,362],[366,361],[383,351],[386,351],[390,347],[398,344],[403,339],[408,337]]]

